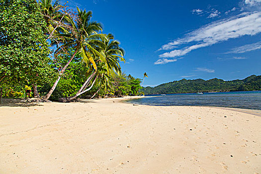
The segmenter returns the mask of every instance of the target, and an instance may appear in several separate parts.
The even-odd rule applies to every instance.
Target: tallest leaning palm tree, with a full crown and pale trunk
[[[83,11],[80,10],[78,7],[77,11],[78,17],[76,22],[74,22],[72,17],[67,16],[70,21],[72,31],[58,34],[59,37],[63,38],[63,45],[58,47],[55,54],[60,53],[61,51],[69,47],[74,48],[75,52],[72,55],[71,59],[63,67],[63,69],[59,72],[58,79],[56,80],[50,91],[47,93],[47,95],[44,97],[44,99],[46,100],[49,99],[66,68],[78,52],[86,62],[88,60],[92,64],[94,72],[97,68],[92,56],[98,55],[101,59],[105,59],[104,56],[100,54],[97,50],[95,50],[95,48],[92,46],[93,43],[95,43],[97,46],[102,45],[102,43],[98,39],[106,39],[104,34],[97,33],[99,31],[102,31],[102,25],[95,21],[90,21],[90,18],[92,16],[91,11]]]

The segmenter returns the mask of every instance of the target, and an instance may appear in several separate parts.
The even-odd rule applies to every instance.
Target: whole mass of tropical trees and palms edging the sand
[[[120,42],[92,12],[59,0],[0,0],[0,87],[42,101],[138,95],[141,79],[121,72]],[[32,87],[30,90],[28,87]]]

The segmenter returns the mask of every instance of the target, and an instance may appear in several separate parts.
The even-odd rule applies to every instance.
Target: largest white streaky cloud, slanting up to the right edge
[[[261,12],[242,13],[238,16],[225,20],[219,20],[199,29],[196,29],[170,43],[189,44],[196,42],[195,45],[183,47],[161,54],[161,58],[178,57],[189,53],[192,50],[207,47],[219,42],[227,41],[232,38],[239,38],[244,35],[255,35],[261,32]],[[170,43],[166,44],[169,45]],[[163,45],[162,50],[167,46]],[[165,47],[166,46],[166,47]]]

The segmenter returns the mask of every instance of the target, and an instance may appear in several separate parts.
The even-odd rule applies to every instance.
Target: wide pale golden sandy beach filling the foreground
[[[0,106],[0,174],[261,174],[261,112],[131,98]]]

